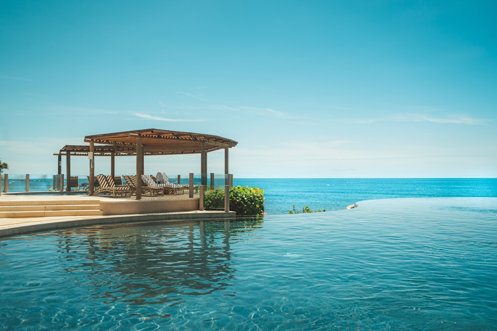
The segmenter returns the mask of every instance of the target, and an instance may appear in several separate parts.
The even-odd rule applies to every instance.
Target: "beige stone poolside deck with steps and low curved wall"
[[[72,209],[76,212],[64,213],[63,205],[75,205],[75,201],[85,204],[98,205],[100,212],[93,214],[84,212],[83,207]],[[42,206],[36,207],[37,212],[25,214],[25,217],[0,217],[0,237],[18,235],[30,232],[39,232],[81,226],[103,225],[112,223],[140,222],[140,221],[187,221],[234,219],[233,211],[198,210],[198,195],[193,198],[181,195],[167,195],[164,197],[108,198],[90,197],[84,195],[47,196],[47,195],[12,195],[0,196],[0,207],[14,209],[14,206]],[[51,207],[48,207],[51,205]],[[60,207],[55,207],[58,205]],[[10,206],[10,208],[8,207]],[[192,207],[193,206],[193,207]],[[196,206],[196,208],[194,208]],[[34,209],[35,207],[31,207]],[[81,209],[79,209],[81,208]],[[179,210],[178,210],[179,209]],[[67,211],[67,210],[66,210]]]

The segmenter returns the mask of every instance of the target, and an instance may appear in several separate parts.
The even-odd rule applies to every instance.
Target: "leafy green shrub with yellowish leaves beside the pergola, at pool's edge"
[[[224,190],[209,190],[204,195],[205,209],[224,209]],[[230,189],[230,210],[237,216],[264,213],[264,190],[248,186]]]

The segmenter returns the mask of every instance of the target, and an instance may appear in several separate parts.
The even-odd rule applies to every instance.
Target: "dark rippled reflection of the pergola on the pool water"
[[[172,304],[229,286],[235,271],[230,241],[260,223],[189,222],[159,233],[160,223],[66,231],[58,237],[66,260],[61,272],[87,271],[80,285],[99,288],[91,299],[106,304]]]

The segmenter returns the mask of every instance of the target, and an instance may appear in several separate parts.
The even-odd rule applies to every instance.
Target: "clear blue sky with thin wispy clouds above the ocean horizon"
[[[497,177],[496,1],[0,0],[4,173],[84,136],[238,141],[238,178]],[[87,175],[85,157],[72,175]],[[95,173],[110,174],[97,158]],[[116,174],[134,173],[133,157]],[[200,172],[200,155],[145,172]],[[224,173],[224,152],[207,171]],[[65,160],[63,160],[65,172]]]

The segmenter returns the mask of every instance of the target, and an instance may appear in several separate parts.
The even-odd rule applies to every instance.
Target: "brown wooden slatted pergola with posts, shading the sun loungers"
[[[228,176],[228,150],[238,142],[212,134],[178,132],[159,129],[145,129],[126,132],[87,135],[84,141],[89,145],[66,145],[59,155],[66,155],[67,177],[71,178],[71,155],[87,155],[90,160],[88,194],[93,195],[94,157],[111,157],[111,175],[114,176],[115,156],[136,156],[136,175],[144,173],[146,155],[200,154],[201,185],[207,185],[207,153],[225,150],[225,175]],[[141,181],[138,181],[136,199],[141,199]]]

